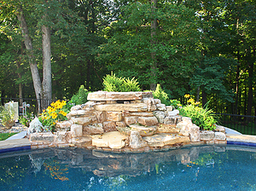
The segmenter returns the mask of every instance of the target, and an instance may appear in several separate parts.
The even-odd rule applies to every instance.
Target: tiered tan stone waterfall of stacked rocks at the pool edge
[[[191,119],[154,99],[152,92],[97,91],[87,99],[71,108],[68,121],[57,123],[54,134],[32,133],[32,147],[137,152],[226,142],[224,132],[200,131]]]

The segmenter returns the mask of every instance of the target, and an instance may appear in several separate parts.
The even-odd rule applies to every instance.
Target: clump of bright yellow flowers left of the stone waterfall
[[[59,121],[67,120],[67,113],[69,113],[70,107],[67,101],[55,101],[50,104],[47,109],[40,114],[39,120],[43,124],[45,131],[54,130],[55,124]]]

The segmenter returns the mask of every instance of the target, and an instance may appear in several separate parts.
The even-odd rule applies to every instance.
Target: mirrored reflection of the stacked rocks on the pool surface
[[[175,149],[157,153],[108,153],[90,151],[80,148],[61,149],[48,148],[34,150],[29,154],[34,172],[41,170],[45,161],[57,159],[58,163],[68,165],[68,168],[79,168],[91,171],[98,177],[118,177],[127,175],[137,177],[144,172],[160,171],[158,164],[177,161],[183,165],[190,165],[199,158],[200,153],[224,152],[225,147],[195,147]],[[207,159],[207,163],[212,163]]]

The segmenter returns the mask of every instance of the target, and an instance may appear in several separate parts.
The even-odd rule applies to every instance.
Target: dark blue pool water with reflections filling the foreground
[[[1,190],[256,190],[256,148],[157,153],[49,148],[0,154]]]

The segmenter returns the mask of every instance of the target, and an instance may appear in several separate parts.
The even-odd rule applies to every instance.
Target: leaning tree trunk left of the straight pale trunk
[[[18,9],[17,18],[20,21],[21,33],[26,46],[26,54],[28,55],[28,61],[29,61],[31,72],[32,72],[32,80],[33,80],[36,97],[38,99],[38,112],[39,112],[40,111],[39,109],[41,107],[39,99],[40,99],[40,95],[42,94],[41,79],[38,72],[37,62],[36,62],[35,56],[33,55],[32,40],[29,37],[28,29],[26,25],[26,19],[21,7]]]

